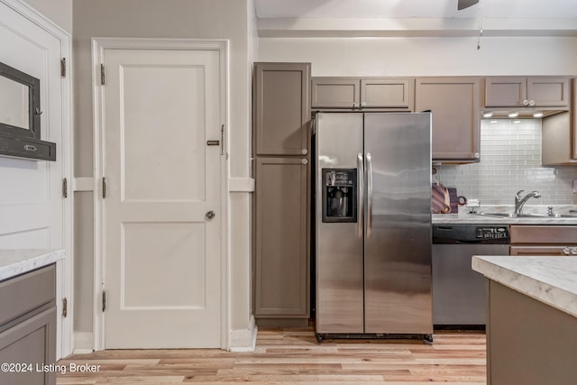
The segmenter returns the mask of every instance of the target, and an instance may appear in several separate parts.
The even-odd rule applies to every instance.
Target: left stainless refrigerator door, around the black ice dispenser
[[[324,223],[325,203],[319,191],[325,186],[323,169],[357,170],[359,152],[362,156],[362,114],[316,115],[316,333],[319,334],[363,333],[362,234],[358,223],[362,223],[362,212],[358,212],[355,223]],[[357,180],[362,180],[358,177],[357,170]],[[357,193],[357,207],[359,197],[362,194]]]

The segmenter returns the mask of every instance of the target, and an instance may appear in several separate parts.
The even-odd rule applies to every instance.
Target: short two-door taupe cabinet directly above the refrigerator
[[[313,78],[313,108],[413,111],[413,78]]]

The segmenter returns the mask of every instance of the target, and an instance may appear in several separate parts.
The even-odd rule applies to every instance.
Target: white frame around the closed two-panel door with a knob
[[[104,201],[102,197],[102,179],[105,154],[103,153],[103,106],[104,92],[101,86],[100,64],[104,63],[105,50],[218,50],[220,55],[220,120],[224,124],[224,156],[221,159],[221,207],[223,213],[221,225],[221,348],[228,347],[229,319],[229,258],[228,258],[228,121],[229,121],[229,55],[227,40],[197,39],[141,39],[141,38],[93,38],[92,39],[92,90],[93,90],[93,133],[94,133],[94,343],[96,351],[105,349],[105,312],[102,311],[102,293],[104,289],[105,258],[103,252]],[[106,87],[106,86],[104,86]]]

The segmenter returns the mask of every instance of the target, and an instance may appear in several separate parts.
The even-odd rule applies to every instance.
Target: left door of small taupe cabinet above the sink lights
[[[523,106],[524,100],[527,100],[527,78],[485,78],[486,107]]]

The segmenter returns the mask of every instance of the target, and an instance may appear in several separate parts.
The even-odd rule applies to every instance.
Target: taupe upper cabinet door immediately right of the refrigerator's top
[[[433,160],[479,160],[480,78],[417,78],[415,111],[433,115]]]

